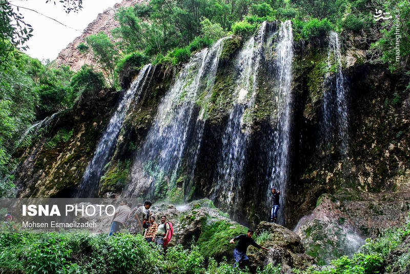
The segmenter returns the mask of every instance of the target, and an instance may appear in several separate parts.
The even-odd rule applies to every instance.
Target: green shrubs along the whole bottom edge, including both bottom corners
[[[366,244],[352,258],[343,256],[333,260],[323,270],[313,267],[296,273],[305,274],[372,274],[389,271],[392,267],[404,270],[410,262],[409,250],[396,259],[389,259],[410,236],[410,221],[400,228],[385,230],[378,239],[367,239]],[[257,242],[271,239],[262,233]],[[224,240],[225,242],[226,239]],[[154,248],[153,248],[154,247]],[[403,247],[405,249],[405,247]],[[0,234],[0,269],[27,273],[244,273],[226,261],[217,263],[209,258],[208,265],[200,248],[181,246],[168,248],[163,253],[148,244],[141,235],[128,233],[108,237],[106,234],[28,233],[18,230]],[[267,266],[257,273],[279,273],[280,266]]]

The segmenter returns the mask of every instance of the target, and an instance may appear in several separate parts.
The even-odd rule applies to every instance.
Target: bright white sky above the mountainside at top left
[[[87,25],[97,18],[98,13],[103,13],[121,0],[83,0],[83,9],[69,14],[57,0],[55,2],[54,5],[53,1],[46,4],[46,0],[10,0],[13,5],[36,10],[69,26],[60,25],[33,11],[19,9],[25,22],[33,27],[33,37],[27,43],[30,49],[26,53],[40,61],[54,60],[62,49],[80,36]]]

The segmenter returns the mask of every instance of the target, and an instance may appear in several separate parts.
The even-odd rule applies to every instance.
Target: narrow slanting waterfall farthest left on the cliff
[[[125,115],[134,97],[137,96],[137,100],[139,99],[141,91],[150,75],[151,69],[152,65],[149,64],[140,70],[136,80],[132,82],[131,87],[126,91],[119,102],[118,107],[111,117],[103,136],[98,142],[94,156],[84,172],[83,180],[81,180],[76,197],[97,197],[99,180],[101,175],[103,175],[104,166],[108,163],[112,153],[114,152],[117,143],[117,136],[122,127],[122,123],[124,122]]]

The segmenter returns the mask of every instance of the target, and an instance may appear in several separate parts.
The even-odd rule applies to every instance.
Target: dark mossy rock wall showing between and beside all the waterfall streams
[[[275,24],[271,27],[275,39],[277,27]],[[348,37],[341,40],[351,41]],[[244,44],[234,36],[229,42],[219,62],[211,96],[204,100],[205,94],[198,94],[193,112],[197,115],[205,110],[206,118],[198,162],[193,181],[189,182],[186,180],[187,174],[183,173],[189,170],[189,159],[183,159],[183,172],[178,178],[181,185],[170,192],[174,201],[209,197],[214,188],[223,133],[233,106],[238,53]],[[363,53],[364,49],[356,50],[349,43],[342,48],[350,115],[350,155],[345,159],[337,149],[338,144],[326,144],[323,138],[327,42],[325,38],[294,42],[291,175],[288,200],[280,209],[289,228],[311,212],[317,198],[325,192],[334,193],[345,187],[368,192],[408,190],[410,91],[406,86],[409,78],[404,71],[391,73],[384,65],[370,64]],[[265,54],[262,58],[255,107],[248,113],[250,119],[244,123],[244,127],[251,129],[245,154],[245,176],[238,204],[229,212],[235,220],[248,225],[267,220],[269,211],[266,197],[272,165],[272,135],[277,123],[272,94],[274,68],[268,62],[271,58],[275,56]],[[138,102],[132,102],[126,115],[115,152],[105,169],[105,178],[110,178],[110,181],[105,181],[105,185],[104,180],[101,181],[100,196],[111,192],[120,194],[119,181],[125,175],[119,167],[127,162],[132,163],[152,125],[161,98],[181,68],[181,65],[152,68],[147,88]],[[127,77],[127,81],[133,78],[131,75]],[[100,99],[98,96],[85,98],[72,110],[58,114],[43,139],[27,149],[16,172],[21,196],[67,195],[75,189],[115,109],[118,94],[109,94]],[[68,135],[70,137],[65,141]],[[113,188],[113,185],[119,187]],[[148,195],[152,200],[167,198],[164,195],[155,197],[149,187],[141,193],[141,198]],[[220,206],[218,199],[214,202]]]

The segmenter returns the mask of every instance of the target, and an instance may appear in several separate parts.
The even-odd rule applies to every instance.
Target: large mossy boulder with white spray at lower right
[[[399,227],[406,220],[409,192],[368,193],[344,189],[322,194],[311,214],[295,227],[306,253],[319,264],[350,256],[365,238],[376,238],[386,227]],[[329,252],[331,250],[332,252]]]

